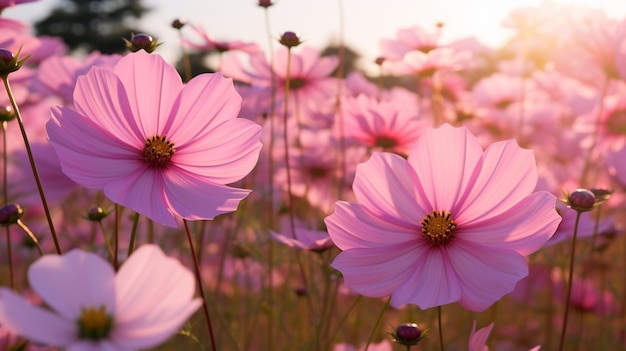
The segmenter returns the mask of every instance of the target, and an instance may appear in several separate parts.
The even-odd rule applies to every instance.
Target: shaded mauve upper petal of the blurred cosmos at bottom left
[[[33,290],[67,320],[81,308],[106,306],[115,312],[113,267],[100,256],[78,249],[64,255],[46,255],[28,269]]]

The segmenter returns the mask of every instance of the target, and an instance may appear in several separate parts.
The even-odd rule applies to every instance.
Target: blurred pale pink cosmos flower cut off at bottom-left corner
[[[0,323],[35,342],[68,350],[135,350],[172,336],[200,306],[193,274],[155,245],[113,267],[90,252],[47,255],[28,270],[49,308],[0,288]]]

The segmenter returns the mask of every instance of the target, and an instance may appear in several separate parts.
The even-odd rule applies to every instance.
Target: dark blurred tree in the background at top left
[[[136,22],[148,10],[141,0],[61,0],[35,30],[62,38],[72,51],[120,53],[122,38],[141,32]]]

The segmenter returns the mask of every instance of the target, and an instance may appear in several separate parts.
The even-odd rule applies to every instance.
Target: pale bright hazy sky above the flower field
[[[45,17],[58,1],[39,0],[19,5],[5,10],[3,15],[32,23]],[[501,26],[508,13],[545,1],[601,8],[610,17],[626,17],[626,0],[276,0],[269,8],[268,17],[273,37],[293,31],[305,44],[323,49],[338,42],[340,13],[343,13],[345,42],[364,57],[365,64],[373,65],[380,55],[380,40],[393,38],[401,27],[434,28],[442,22],[444,43],[475,36],[495,47],[511,35]],[[252,41],[264,49],[269,47],[265,13],[256,6],[256,0],[143,0],[143,3],[152,11],[142,18],[140,28],[163,42],[158,52],[172,63],[180,52],[178,33],[170,26],[175,18],[202,25],[218,40]]]

